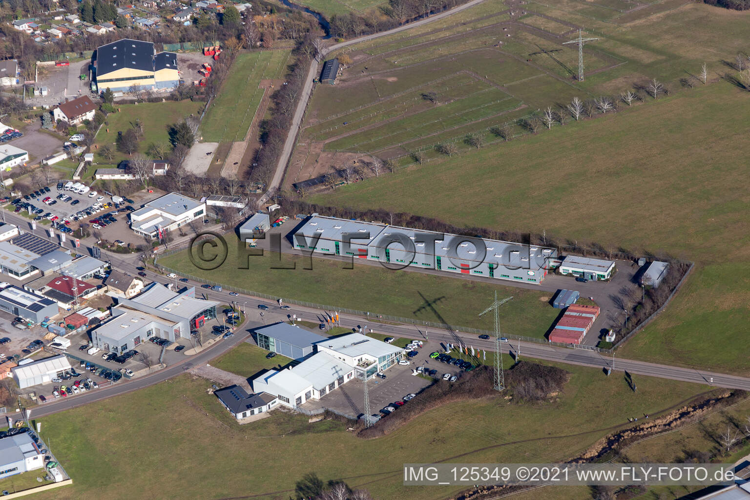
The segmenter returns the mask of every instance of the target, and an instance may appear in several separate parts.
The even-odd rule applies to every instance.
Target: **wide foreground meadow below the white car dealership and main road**
[[[344,424],[309,424],[306,416],[290,412],[240,427],[207,394],[211,381],[186,374],[43,418],[43,436],[74,483],[35,498],[287,499],[302,475],[315,472],[323,481],[365,487],[376,499],[439,500],[457,489],[405,488],[401,466],[426,457],[462,463],[562,460],[627,424],[628,416],[655,415],[700,391],[644,377],[634,394],[622,379],[607,379],[600,370],[565,369],[571,380],[552,403],[450,404],[368,441]],[[226,453],[238,446],[242,453]]]

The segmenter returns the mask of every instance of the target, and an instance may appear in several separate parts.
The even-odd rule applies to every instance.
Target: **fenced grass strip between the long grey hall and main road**
[[[278,254],[275,254],[278,256]],[[559,310],[548,303],[550,296],[534,290],[518,289],[496,283],[458,280],[418,272],[394,272],[371,265],[344,268],[347,262],[310,259],[283,255],[278,261],[273,255],[246,257],[249,269],[238,269],[236,245],[229,241],[229,256],[220,268],[202,271],[193,266],[187,254],[175,253],[160,258],[160,265],[184,274],[217,281],[225,285],[253,289],[287,299],[309,301],[330,307],[347,307],[370,310],[371,313],[388,314],[428,322],[449,322],[469,328],[491,329],[489,320],[476,316],[492,301],[493,293],[499,297],[514,298],[503,306],[502,328],[517,335],[544,337],[547,328],[556,319]],[[296,266],[295,269],[274,269],[272,266]],[[422,296],[430,301],[439,299],[438,318],[429,310],[420,310]],[[441,320],[442,318],[442,320]],[[308,319],[308,318],[305,318]],[[377,330],[377,328],[376,328]]]

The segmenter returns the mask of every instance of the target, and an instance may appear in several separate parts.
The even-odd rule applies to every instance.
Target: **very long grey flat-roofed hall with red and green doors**
[[[298,249],[407,267],[539,284],[553,248],[314,215],[293,235]]]

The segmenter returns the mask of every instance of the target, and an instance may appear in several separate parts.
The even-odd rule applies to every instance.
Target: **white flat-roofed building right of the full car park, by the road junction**
[[[169,193],[130,213],[130,229],[138,235],[157,238],[205,214],[205,203],[178,193]]]

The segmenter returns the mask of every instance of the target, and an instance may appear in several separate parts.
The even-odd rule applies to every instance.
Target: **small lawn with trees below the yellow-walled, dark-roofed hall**
[[[138,151],[146,153],[148,145],[153,143],[169,144],[169,127],[172,124],[181,121],[188,115],[199,112],[202,103],[191,100],[175,102],[172,100],[164,103],[140,103],[140,104],[122,104],[116,106],[120,112],[113,112],[107,115],[108,125],[104,125],[99,130],[94,142],[93,151],[95,160],[99,163],[117,164],[121,160],[127,159],[127,154],[117,151],[115,142],[118,132],[124,132],[133,127],[136,119],[140,119],[143,124],[143,137],[140,140]],[[109,132],[107,132],[109,130]],[[107,160],[98,154],[98,150],[104,145],[110,145],[115,151],[113,160]],[[89,175],[94,175],[95,169],[89,169]]]

